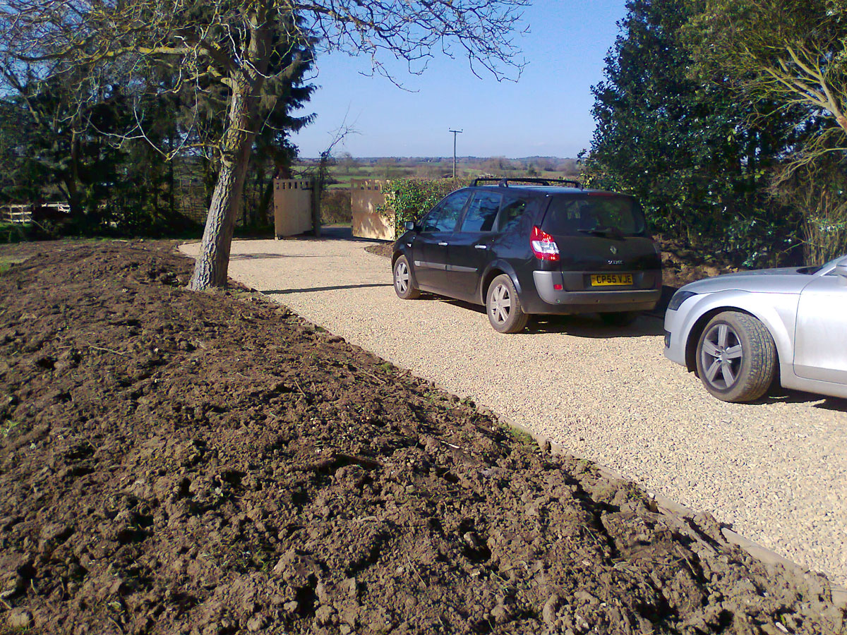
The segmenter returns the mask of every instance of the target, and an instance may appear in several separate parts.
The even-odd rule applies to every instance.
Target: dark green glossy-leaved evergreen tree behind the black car
[[[682,36],[694,3],[630,0],[627,8],[593,89],[588,178],[638,196],[668,238],[767,262],[790,246],[777,229],[785,210],[766,191],[790,130],[751,119],[749,104],[691,75]]]

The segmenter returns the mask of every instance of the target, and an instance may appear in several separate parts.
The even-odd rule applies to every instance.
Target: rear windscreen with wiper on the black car
[[[555,196],[547,208],[542,229],[551,235],[604,231],[640,235],[645,230],[645,219],[639,204],[628,196]]]

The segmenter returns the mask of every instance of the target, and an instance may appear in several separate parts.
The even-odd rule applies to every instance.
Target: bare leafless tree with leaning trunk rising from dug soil
[[[298,63],[291,51],[367,55],[374,73],[400,59],[420,73],[435,54],[466,57],[474,73],[498,79],[520,72],[513,37],[529,0],[5,0],[0,4],[0,60],[37,64],[42,75],[86,69],[125,77],[161,67],[171,91],[199,96],[223,87],[226,121],[219,138],[219,175],[202,249],[189,286],[226,282],[230,243],[266,88]],[[201,117],[200,108],[193,113]],[[130,134],[130,133],[128,133]],[[133,135],[144,135],[143,121]],[[190,137],[185,137],[189,142]]]

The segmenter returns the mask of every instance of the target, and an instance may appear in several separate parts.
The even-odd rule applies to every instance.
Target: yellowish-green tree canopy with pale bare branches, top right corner
[[[804,129],[794,166],[847,150],[844,0],[705,0],[685,40],[700,80]]]

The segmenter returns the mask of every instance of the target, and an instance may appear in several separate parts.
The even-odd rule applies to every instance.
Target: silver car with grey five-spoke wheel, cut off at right
[[[847,256],[686,284],[667,306],[665,356],[724,401],[758,399],[777,374],[847,397]]]

